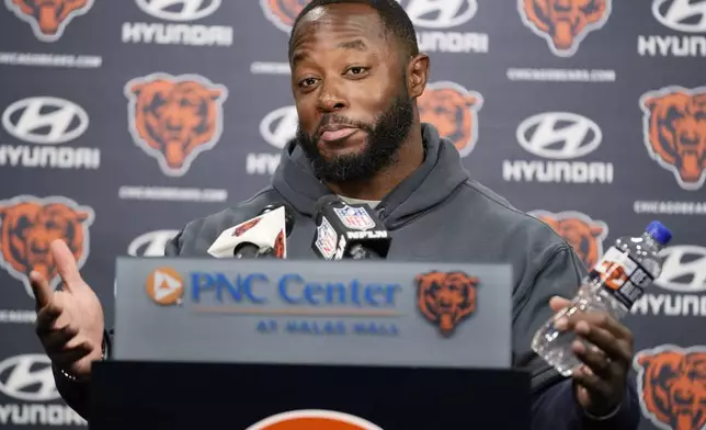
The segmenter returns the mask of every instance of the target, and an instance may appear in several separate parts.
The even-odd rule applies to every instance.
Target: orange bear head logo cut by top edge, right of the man
[[[554,55],[570,57],[611,15],[612,0],[517,0],[524,25],[544,37]]]

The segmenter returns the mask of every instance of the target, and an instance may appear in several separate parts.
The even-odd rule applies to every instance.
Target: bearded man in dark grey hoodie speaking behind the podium
[[[513,358],[532,374],[534,428],[636,429],[626,327],[604,314],[579,313],[567,320],[566,329],[596,346],[574,346],[585,365],[571,378],[532,352],[533,333],[568,305],[558,296],[574,295],[585,268],[547,225],[471,180],[453,144],[420,123],[415,99],[424,91],[430,60],[418,52],[412,23],[398,3],[312,1],[294,25],[289,63],[299,129],[283,150],[272,185],[189,223],[166,253],[205,256],[224,229],[270,203],[286,202],[296,219],[291,257],[315,258],[316,201],[335,193],[365,202],[391,231],[389,260],[513,264]],[[110,354],[110,336],[101,305],[64,242],[55,241],[52,252],[64,291],[53,292],[41,275],[31,275],[37,333],[59,392],[86,416],[91,362]]]

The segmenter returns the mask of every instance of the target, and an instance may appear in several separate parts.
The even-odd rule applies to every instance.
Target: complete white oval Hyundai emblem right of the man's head
[[[537,157],[555,160],[579,158],[601,145],[603,134],[596,123],[570,112],[545,112],[520,123],[517,143]]]

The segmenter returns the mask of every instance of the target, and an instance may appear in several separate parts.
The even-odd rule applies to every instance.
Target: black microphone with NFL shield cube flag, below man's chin
[[[385,259],[392,238],[366,204],[349,205],[324,195],[315,205],[314,252],[324,260]]]

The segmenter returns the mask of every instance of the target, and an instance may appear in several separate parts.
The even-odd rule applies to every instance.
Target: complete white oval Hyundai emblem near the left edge
[[[73,140],[89,126],[89,116],[83,108],[53,97],[18,100],[3,111],[1,121],[12,136],[39,145]]]

